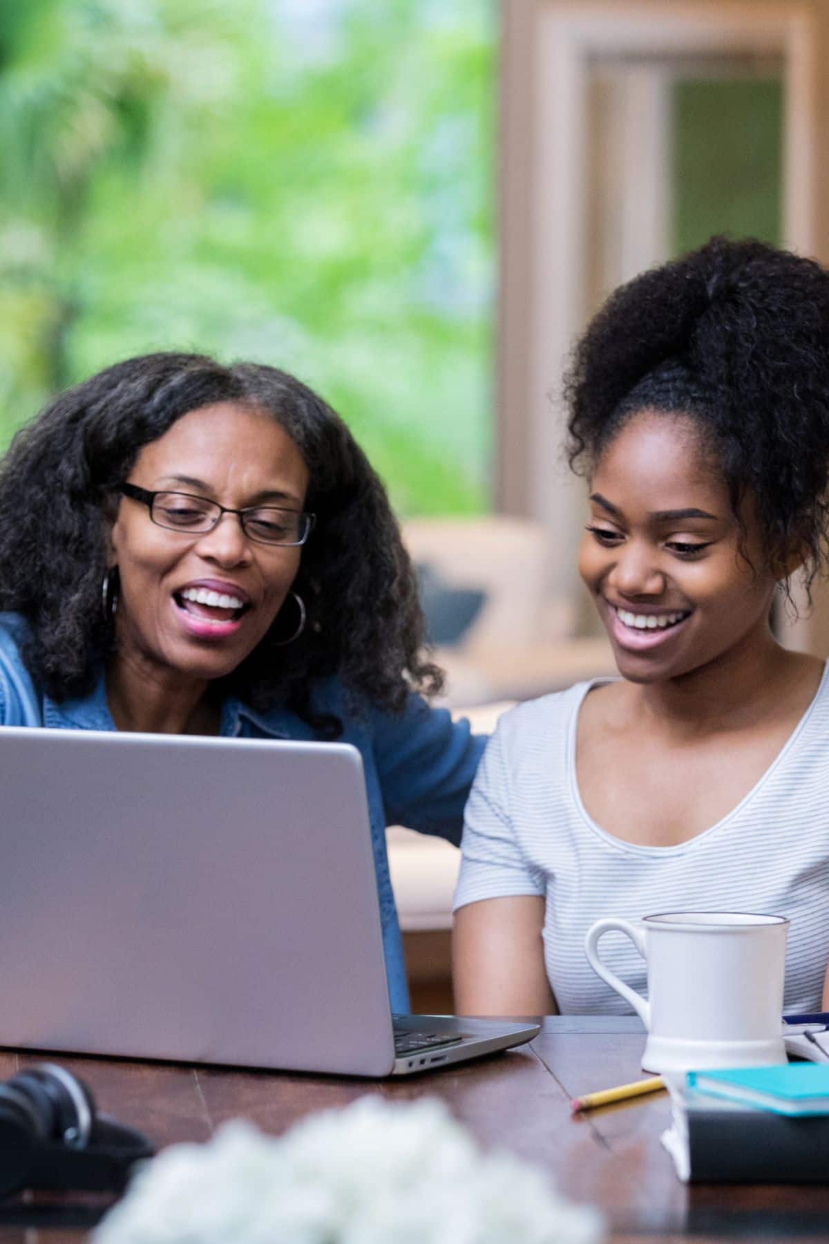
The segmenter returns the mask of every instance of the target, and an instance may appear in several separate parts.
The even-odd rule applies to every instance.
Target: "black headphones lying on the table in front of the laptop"
[[[123,1192],[131,1167],[153,1146],[98,1115],[89,1087],[41,1062],[0,1082],[0,1197],[21,1188]]]

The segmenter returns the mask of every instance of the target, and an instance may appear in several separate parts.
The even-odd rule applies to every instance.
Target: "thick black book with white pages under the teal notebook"
[[[790,1118],[710,1097],[665,1076],[671,1127],[662,1144],[691,1183],[825,1183],[829,1116]]]

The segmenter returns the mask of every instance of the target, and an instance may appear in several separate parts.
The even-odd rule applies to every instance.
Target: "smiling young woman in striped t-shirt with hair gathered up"
[[[620,678],[503,718],[466,811],[456,1003],[623,1011],[602,916],[788,916],[785,1004],[829,960],[829,677],[771,624],[825,570],[829,274],[713,240],[618,290],[568,384],[579,569]],[[645,965],[608,934],[634,989]],[[607,949],[605,949],[607,947]]]

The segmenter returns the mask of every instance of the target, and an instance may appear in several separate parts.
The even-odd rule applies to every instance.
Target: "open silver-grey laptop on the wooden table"
[[[0,1045],[388,1076],[536,1024],[394,1016],[347,744],[0,729]]]

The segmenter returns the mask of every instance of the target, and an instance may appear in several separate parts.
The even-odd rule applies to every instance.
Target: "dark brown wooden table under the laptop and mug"
[[[221,1122],[240,1115],[278,1133],[309,1111],[344,1106],[363,1093],[390,1101],[434,1095],[482,1144],[539,1163],[568,1197],[600,1207],[615,1244],[829,1240],[829,1183],[681,1184],[659,1141],[669,1121],[665,1093],[570,1116],[572,1097],[641,1076],[643,1044],[636,1018],[551,1016],[529,1046],[382,1084],[178,1064],[60,1061],[88,1081],[101,1108],[159,1146],[206,1141]],[[0,1076],[31,1061],[30,1055],[0,1052]],[[70,1213],[58,1207],[62,1225],[45,1228],[40,1219],[53,1217],[45,1205],[6,1208],[0,1244],[83,1239],[82,1228],[67,1228]]]

